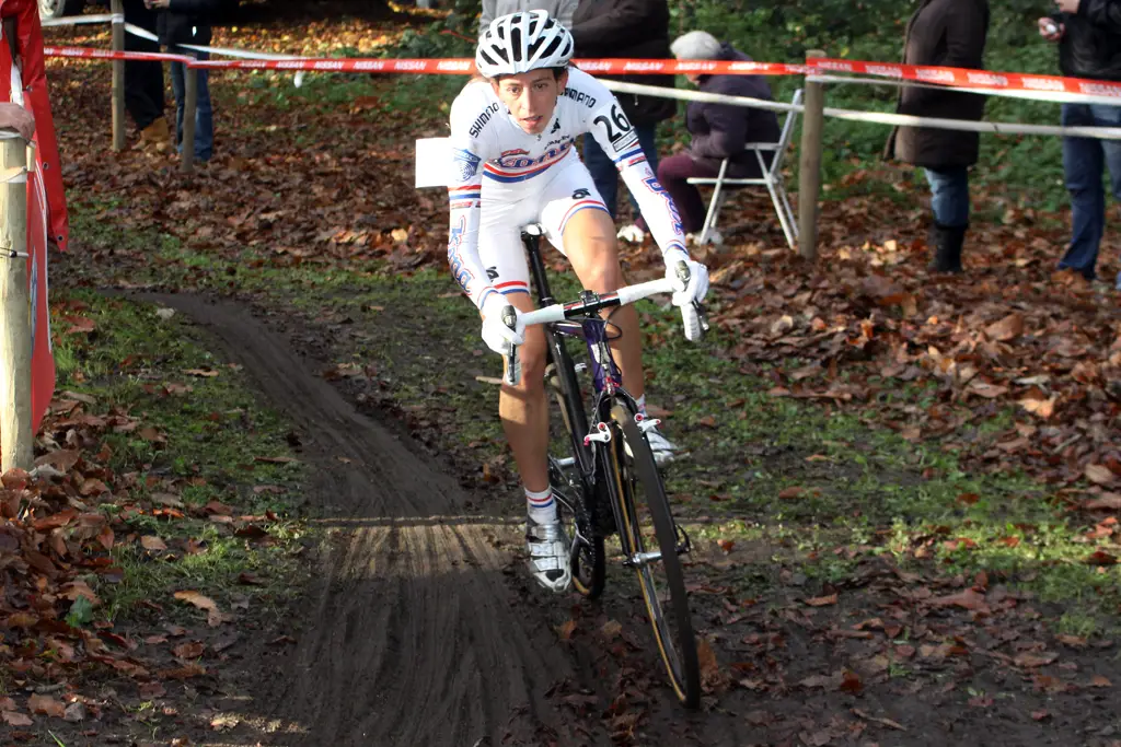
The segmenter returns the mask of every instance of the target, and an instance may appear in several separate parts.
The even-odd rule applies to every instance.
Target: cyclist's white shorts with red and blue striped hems
[[[537,189],[532,189],[537,185],[527,189],[526,181],[507,185],[483,178],[479,260],[494,288],[508,296],[530,291],[522,226],[541,224],[549,243],[565,254],[562,236],[572,216],[585,209],[608,212],[592,175],[575,153],[535,180],[541,178],[548,181]]]

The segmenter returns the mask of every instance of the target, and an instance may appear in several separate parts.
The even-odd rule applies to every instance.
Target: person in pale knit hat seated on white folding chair
[[[706,31],[689,31],[670,45],[678,59],[724,59],[750,62],[751,57],[721,44]],[[770,86],[760,75],[686,75],[704,93],[750,96],[772,101]],[[704,226],[705,205],[696,187],[687,183],[694,177],[715,178],[720,165],[729,159],[724,176],[736,179],[759,178],[759,161],[745,146],[749,142],[777,142],[778,118],[775,112],[731,104],[694,101],[685,114],[685,125],[692,136],[688,152],[670,156],[658,165],[658,181],[666,188],[680,213],[686,237],[692,239]],[[771,155],[765,157],[767,164]],[[721,237],[713,233],[713,243]]]

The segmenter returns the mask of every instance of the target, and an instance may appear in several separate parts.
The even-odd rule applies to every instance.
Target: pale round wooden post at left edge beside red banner
[[[31,469],[31,297],[27,286],[27,141],[0,156],[0,468]]]

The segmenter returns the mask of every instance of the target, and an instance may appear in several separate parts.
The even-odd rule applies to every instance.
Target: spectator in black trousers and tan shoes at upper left
[[[156,34],[156,13],[145,0],[124,0],[124,21]],[[136,34],[124,35],[126,52],[159,52],[159,45]],[[124,105],[132,115],[140,139],[167,148],[172,133],[164,119],[164,64],[129,59],[124,63]]]

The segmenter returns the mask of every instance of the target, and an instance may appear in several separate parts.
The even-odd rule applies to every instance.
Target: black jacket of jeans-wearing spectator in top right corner
[[[1121,81],[1121,0],[1082,0],[1077,13],[1054,18],[1066,25],[1058,44],[1063,75]]]

